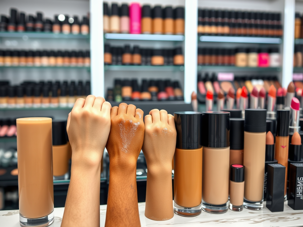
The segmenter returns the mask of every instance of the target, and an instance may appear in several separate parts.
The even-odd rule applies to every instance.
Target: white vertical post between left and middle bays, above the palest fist
[[[90,0],[92,94],[104,97],[103,1]]]

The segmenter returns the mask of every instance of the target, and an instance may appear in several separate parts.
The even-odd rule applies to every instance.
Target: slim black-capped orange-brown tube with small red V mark
[[[277,135],[275,159],[279,164],[286,166],[285,175],[285,199],[287,186],[287,161],[288,161],[288,145],[289,145],[289,110],[277,110]]]

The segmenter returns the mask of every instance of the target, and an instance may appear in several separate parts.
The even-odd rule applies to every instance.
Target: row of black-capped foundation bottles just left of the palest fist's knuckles
[[[0,87],[0,108],[73,107],[78,98],[86,98],[91,93],[87,81],[25,81],[20,86],[2,83]]]

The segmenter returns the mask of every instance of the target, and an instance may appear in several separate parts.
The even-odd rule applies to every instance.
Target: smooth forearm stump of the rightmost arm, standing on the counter
[[[165,167],[148,168],[145,216],[158,221],[168,220],[174,216],[171,163]]]

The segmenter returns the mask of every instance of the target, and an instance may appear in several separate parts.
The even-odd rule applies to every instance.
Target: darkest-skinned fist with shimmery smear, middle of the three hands
[[[143,139],[143,111],[126,103],[112,107],[111,130],[106,144],[110,163],[118,163],[117,168],[136,165]]]

